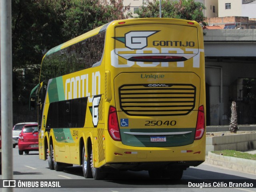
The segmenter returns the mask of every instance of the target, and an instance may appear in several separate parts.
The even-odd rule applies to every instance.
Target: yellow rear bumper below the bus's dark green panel
[[[108,148],[106,165],[112,168],[148,170],[156,167],[198,166],[205,160],[204,139],[194,141],[188,146],[141,148],[119,144]],[[124,148],[123,148],[124,147]]]

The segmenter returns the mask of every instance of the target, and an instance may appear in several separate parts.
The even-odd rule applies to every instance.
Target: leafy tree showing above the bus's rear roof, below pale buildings
[[[198,23],[205,24],[206,17],[202,10],[206,7],[200,2],[194,0],[162,0],[161,5],[162,18],[195,20]],[[148,5],[142,5],[135,13],[138,14],[138,18],[156,18],[160,15],[159,7],[159,0],[153,0],[148,2]]]

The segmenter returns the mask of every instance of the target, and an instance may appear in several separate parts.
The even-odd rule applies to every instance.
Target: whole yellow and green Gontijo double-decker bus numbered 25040
[[[202,27],[195,21],[112,21],[49,50],[30,95],[39,156],[84,177],[148,170],[182,178],[205,160]]]

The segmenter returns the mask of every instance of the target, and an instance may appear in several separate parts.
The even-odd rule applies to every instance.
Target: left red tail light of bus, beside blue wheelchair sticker
[[[112,139],[121,141],[116,108],[112,106],[110,106],[108,111],[108,132]]]

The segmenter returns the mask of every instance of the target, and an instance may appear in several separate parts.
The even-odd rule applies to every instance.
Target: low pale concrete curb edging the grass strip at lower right
[[[256,174],[255,160],[217,155],[212,152],[208,152],[208,156],[205,157],[205,162],[208,164],[222,166],[224,168],[229,168],[240,172]]]

